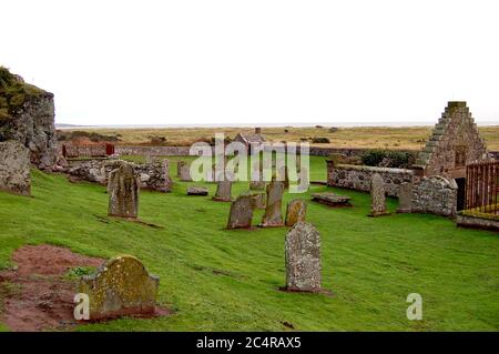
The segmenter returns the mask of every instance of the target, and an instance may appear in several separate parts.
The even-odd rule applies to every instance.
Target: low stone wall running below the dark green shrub
[[[385,182],[387,195],[398,196],[400,184],[413,182],[413,171],[404,169],[373,168],[353,164],[336,164],[327,161],[327,185],[350,190],[370,191],[373,174],[379,173]]]

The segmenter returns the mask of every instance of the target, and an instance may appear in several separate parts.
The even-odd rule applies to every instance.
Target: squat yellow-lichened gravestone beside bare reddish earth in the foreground
[[[79,292],[89,295],[90,320],[155,312],[160,279],[131,255],[116,256],[94,275],[83,276]]]

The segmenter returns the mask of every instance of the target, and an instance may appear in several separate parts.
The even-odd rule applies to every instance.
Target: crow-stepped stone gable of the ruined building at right
[[[487,158],[487,148],[466,102],[449,102],[415,165],[425,176],[464,178],[466,164]]]

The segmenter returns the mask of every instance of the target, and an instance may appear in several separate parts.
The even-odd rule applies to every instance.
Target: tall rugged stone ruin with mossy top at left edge
[[[0,141],[17,140],[39,169],[58,163],[53,94],[0,67]]]

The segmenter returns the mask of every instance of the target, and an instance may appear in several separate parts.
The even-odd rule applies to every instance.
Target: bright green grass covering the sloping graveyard
[[[324,161],[314,158],[312,171],[324,180]],[[174,178],[172,193],[141,192],[140,218],[164,227],[156,230],[108,218],[101,185],[40,171],[32,179],[33,198],[0,192],[0,267],[12,265],[12,252],[23,244],[103,257],[134,254],[161,277],[159,300],[174,310],[167,317],[79,331],[288,331],[284,322],[296,331],[499,330],[497,233],[458,229],[436,215],[367,218],[368,194],[334,189],[355,206],[310,202],[307,215],[322,236],[323,286],[334,295],[284,293],[277,289],[285,281],[286,229],[224,230],[230,204],[185,195],[190,183]],[[215,184],[206,185],[213,195]],[[246,189],[236,183],[234,194]],[[310,192],[285,194],[285,202],[309,200]],[[396,206],[388,200],[390,211]],[[261,216],[257,211],[255,224]],[[406,318],[409,293],[422,296],[422,321]]]

